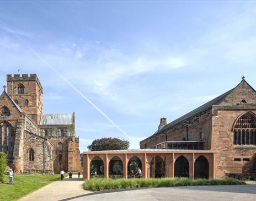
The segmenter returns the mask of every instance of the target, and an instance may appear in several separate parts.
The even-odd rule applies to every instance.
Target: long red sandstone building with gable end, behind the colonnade
[[[244,78],[235,88],[167,124],[140,148],[200,149],[216,152],[215,177],[256,174],[256,91]]]

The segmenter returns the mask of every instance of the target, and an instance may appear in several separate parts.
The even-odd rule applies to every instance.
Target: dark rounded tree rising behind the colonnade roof
[[[119,138],[100,138],[93,140],[92,144],[87,146],[89,151],[103,151],[103,150],[121,150],[128,149],[129,141]]]

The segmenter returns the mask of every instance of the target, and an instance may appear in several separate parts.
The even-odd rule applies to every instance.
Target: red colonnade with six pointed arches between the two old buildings
[[[83,178],[189,177],[214,178],[213,151],[88,151],[83,153]]]

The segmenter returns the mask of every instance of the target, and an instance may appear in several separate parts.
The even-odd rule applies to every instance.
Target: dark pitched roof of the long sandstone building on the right
[[[242,81],[241,81],[237,86],[239,86],[239,85],[242,84],[243,82],[246,82],[246,80],[242,79]],[[246,82],[246,83],[247,83],[247,82]],[[247,83],[247,84],[248,84],[248,83]],[[222,101],[225,100],[225,98],[226,98],[228,95],[230,95],[230,94],[232,93],[232,91],[233,91],[234,89],[237,88],[237,86],[234,87],[233,89],[227,91],[226,93],[224,93],[224,94],[222,94],[222,95],[216,97],[215,99],[213,99],[213,100],[211,100],[211,101],[209,101],[209,102],[206,102],[206,104],[201,105],[201,106],[198,107],[198,108],[195,108],[195,110],[192,110],[191,112],[186,113],[184,116],[179,117],[179,118],[175,119],[174,121],[168,123],[166,126],[162,127],[160,130],[156,131],[153,135],[151,135],[151,136],[148,137],[148,138],[151,138],[151,137],[153,137],[154,135],[163,133],[163,132],[167,131],[168,129],[172,128],[175,124],[178,124],[178,123],[182,122],[182,121],[185,120],[185,119],[188,119],[188,118],[190,118],[190,117],[193,117],[193,116],[197,115],[197,114],[200,113],[200,112],[209,110],[209,109],[210,109],[212,106],[214,106],[214,105],[219,105]],[[250,86],[249,84],[248,84],[248,86],[249,86],[250,88],[252,88],[252,86]],[[253,89],[253,88],[252,88],[252,89]],[[254,90],[254,89],[253,89],[253,90]],[[254,90],[254,91],[255,91],[255,90]],[[148,138],[147,138],[147,139],[148,139]]]

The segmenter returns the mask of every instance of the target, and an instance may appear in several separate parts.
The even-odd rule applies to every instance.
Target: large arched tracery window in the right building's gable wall
[[[256,145],[256,117],[247,112],[239,117],[234,124],[233,144]]]

